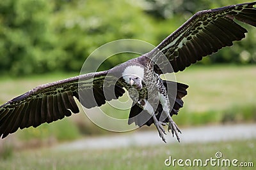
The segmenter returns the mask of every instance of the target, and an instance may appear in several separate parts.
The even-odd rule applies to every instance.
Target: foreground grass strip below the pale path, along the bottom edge
[[[255,162],[255,139],[194,144],[164,144],[157,146],[130,146],[104,150],[68,150],[52,148],[26,150],[13,153],[8,159],[0,159],[0,169],[202,169],[202,167],[179,167],[164,165],[172,159],[216,159],[221,152],[222,159],[237,159],[239,162]],[[212,167],[203,169],[234,169],[234,167]],[[236,169],[253,169],[236,167]]]

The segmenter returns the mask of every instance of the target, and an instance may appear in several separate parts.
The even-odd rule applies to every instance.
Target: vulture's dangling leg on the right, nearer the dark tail
[[[180,138],[179,138],[179,133],[181,133],[179,127],[175,124],[175,122],[172,120],[172,117],[170,116],[170,112],[172,111],[170,108],[170,103],[169,103],[169,99],[168,96],[164,96],[163,94],[160,94],[160,102],[163,106],[163,113],[166,114],[166,118],[168,118],[169,121],[169,125],[168,125],[168,132],[169,130],[172,131],[172,136],[175,136],[177,138],[177,140],[180,142]]]

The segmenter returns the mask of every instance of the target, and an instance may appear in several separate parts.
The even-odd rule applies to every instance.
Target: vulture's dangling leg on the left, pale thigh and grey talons
[[[148,103],[147,100],[144,99],[143,101],[138,101],[138,103],[143,107],[144,110],[147,110],[147,112],[150,115],[152,115],[152,118],[154,120],[154,124],[156,125],[156,129],[159,132],[159,136],[166,143],[166,139],[164,138],[164,134],[166,134],[166,132],[164,131],[163,125],[167,125],[167,124],[163,123],[163,122],[159,122],[157,120],[154,108],[152,107],[152,105],[150,103]]]

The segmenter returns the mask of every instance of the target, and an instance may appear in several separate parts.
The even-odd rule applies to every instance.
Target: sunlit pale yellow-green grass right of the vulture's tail
[[[223,111],[234,105],[256,105],[256,66],[191,66],[176,74],[189,85],[184,97],[188,111]]]

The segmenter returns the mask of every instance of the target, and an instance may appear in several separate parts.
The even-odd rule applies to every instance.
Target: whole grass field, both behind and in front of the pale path
[[[188,96],[184,98],[184,108],[174,117],[179,126],[220,124],[223,122],[255,122],[256,120],[256,67],[255,66],[211,66],[189,67],[177,74],[177,81],[189,85]],[[61,80],[76,74],[45,74],[28,78],[0,78],[0,103],[12,99],[36,85]],[[111,108],[103,108],[113,113]],[[119,112],[118,112],[119,113]],[[127,116],[123,113],[122,117]],[[126,114],[126,115],[125,115]],[[120,116],[120,115],[118,115]],[[227,120],[225,120],[225,118]],[[154,128],[154,127],[152,127]],[[148,129],[148,128],[146,128]],[[156,130],[156,129],[154,129]],[[82,134],[104,133],[86,118],[75,115],[54,124],[44,124],[34,129],[18,131],[20,140],[56,138],[58,141],[71,140]],[[44,141],[43,141],[44,142]],[[28,145],[31,145],[29,143]],[[255,162],[256,141],[240,140],[218,143],[195,143],[172,145],[116,148],[104,150],[60,151],[51,148],[0,150],[0,169],[188,169],[188,167],[164,165],[164,160],[173,159],[215,159],[215,153],[223,153],[223,159],[237,159],[239,162]],[[40,146],[40,145],[39,145]],[[29,147],[28,147],[29,148]],[[190,167],[189,167],[190,168]],[[204,169],[212,169],[206,166]],[[191,167],[190,169],[202,169]],[[228,167],[216,167],[228,169]],[[233,168],[232,168],[233,169]],[[236,167],[236,169],[253,169]]]

